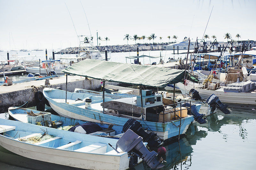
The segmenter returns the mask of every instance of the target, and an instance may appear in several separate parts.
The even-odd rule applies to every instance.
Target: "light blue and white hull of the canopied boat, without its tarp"
[[[149,95],[148,98],[158,97],[158,101],[151,104],[148,102],[146,105],[143,104],[142,110],[143,114],[141,115],[141,106],[139,102],[136,104],[137,97],[140,99],[140,96],[137,97],[126,97],[120,99],[112,99],[109,97],[105,97],[104,107],[106,108],[103,111],[102,107],[102,96],[93,96],[92,94],[87,93],[76,93],[76,92],[67,92],[67,103],[65,102],[65,91],[53,89],[53,88],[44,88],[44,97],[49,101],[52,109],[56,111],[60,116],[74,118],[79,120],[85,120],[90,122],[98,122],[105,124],[114,124],[123,126],[125,122],[129,119],[133,118],[139,121],[142,124],[143,128],[150,129],[149,132],[153,131],[157,134],[157,136],[162,140],[171,140],[173,137],[180,134],[185,134],[188,125],[194,121],[194,117],[191,115],[184,115],[182,117],[182,121],[184,123],[180,125],[180,119],[176,117],[176,119],[172,119],[171,121],[161,113],[161,108],[163,109],[162,95],[157,94]],[[111,94],[112,95],[112,94]],[[85,98],[89,97],[92,99],[92,104],[90,107],[85,107],[85,102],[82,101]],[[81,100],[77,100],[77,99]],[[77,101],[76,101],[77,100]],[[137,100],[140,101],[140,100]],[[108,103],[107,103],[108,102]],[[112,103],[116,103],[113,105]],[[145,102],[145,101],[144,101]],[[116,108],[119,113],[114,114],[107,110],[111,106],[119,106],[119,105],[127,105],[127,107]],[[156,110],[158,109],[159,115],[156,114]],[[180,106],[178,106],[180,108]],[[178,109],[178,107],[176,109]],[[199,111],[201,104],[196,104],[196,108]],[[182,107],[184,110],[185,108]],[[113,110],[113,109],[110,109]],[[123,110],[123,111],[122,111]],[[180,111],[177,110],[177,114],[180,114]],[[142,120],[144,117],[144,120]],[[169,117],[171,119],[171,117]]]

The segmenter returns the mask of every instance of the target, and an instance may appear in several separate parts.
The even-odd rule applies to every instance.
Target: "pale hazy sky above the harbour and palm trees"
[[[0,0],[0,48],[66,48],[77,46],[77,36],[65,3],[68,6],[78,35],[90,35],[83,8],[78,0]],[[163,37],[178,36],[178,41],[189,36],[195,41],[203,36],[210,12],[212,15],[206,29],[210,37],[224,41],[224,34],[237,33],[243,40],[256,39],[254,0],[81,0],[86,12],[94,45],[96,30],[108,45],[126,44],[124,34],[149,36],[155,33],[155,42]],[[211,38],[212,39],[212,38]],[[173,41],[173,39],[171,39]],[[225,40],[226,41],[226,40]],[[138,42],[138,41],[137,41]],[[145,42],[149,42],[148,40]],[[152,41],[151,41],[152,42]],[[134,41],[129,40],[129,44]],[[106,45],[106,41],[101,42]]]

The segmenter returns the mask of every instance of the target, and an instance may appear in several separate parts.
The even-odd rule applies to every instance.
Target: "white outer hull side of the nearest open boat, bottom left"
[[[30,159],[50,162],[83,169],[128,169],[129,158],[123,156],[100,155],[93,153],[70,152],[23,143],[0,136],[0,145],[5,149]],[[127,160],[128,159],[128,160]]]

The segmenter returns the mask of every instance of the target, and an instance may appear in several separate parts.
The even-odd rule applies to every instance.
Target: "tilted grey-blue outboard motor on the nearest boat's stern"
[[[128,129],[117,141],[116,149],[119,147],[123,152],[128,152],[128,154],[134,152],[152,169],[162,168],[164,166],[161,164],[162,161],[156,159],[158,154],[155,151],[149,152],[142,140],[142,137]]]

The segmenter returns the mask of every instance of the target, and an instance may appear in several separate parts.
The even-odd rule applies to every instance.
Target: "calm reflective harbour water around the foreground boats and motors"
[[[254,110],[231,110],[230,115],[219,112],[208,116],[207,124],[191,124],[186,137],[165,146],[167,163],[162,169],[255,169],[256,113]],[[0,148],[0,167],[77,169],[27,159],[4,148]],[[135,169],[149,167],[140,163]]]

